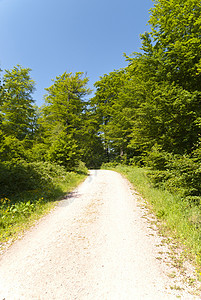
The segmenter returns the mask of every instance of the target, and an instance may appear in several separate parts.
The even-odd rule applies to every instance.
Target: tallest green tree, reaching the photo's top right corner
[[[155,1],[142,53],[127,57],[133,98],[131,148],[156,143],[190,153],[200,137],[200,12],[197,0]]]

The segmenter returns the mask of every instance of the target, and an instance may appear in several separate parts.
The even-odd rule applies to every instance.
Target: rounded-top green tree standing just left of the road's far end
[[[87,83],[82,72],[65,72],[46,89],[41,124],[46,142],[51,145],[47,157],[67,169],[75,167],[83,151],[85,96],[90,93]]]

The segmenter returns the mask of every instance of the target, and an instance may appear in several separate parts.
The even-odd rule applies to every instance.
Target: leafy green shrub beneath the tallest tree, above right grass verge
[[[191,204],[198,205],[201,197],[201,156],[173,155],[154,149],[147,157],[149,178],[156,187],[179,193]]]

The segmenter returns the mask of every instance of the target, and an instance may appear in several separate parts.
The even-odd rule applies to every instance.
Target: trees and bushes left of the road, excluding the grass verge
[[[102,160],[98,123],[85,99],[88,78],[66,72],[56,77],[38,108],[30,71],[17,65],[1,80],[1,197],[41,188],[56,170],[86,172],[84,163],[98,167]]]

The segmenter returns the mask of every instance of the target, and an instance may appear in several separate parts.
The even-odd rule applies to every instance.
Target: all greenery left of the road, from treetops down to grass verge
[[[89,93],[87,81],[82,73],[58,77],[39,109],[30,69],[18,65],[5,70],[0,88],[0,244],[15,238],[86,177],[83,161],[93,151],[82,99]],[[94,140],[99,143],[98,137]]]

